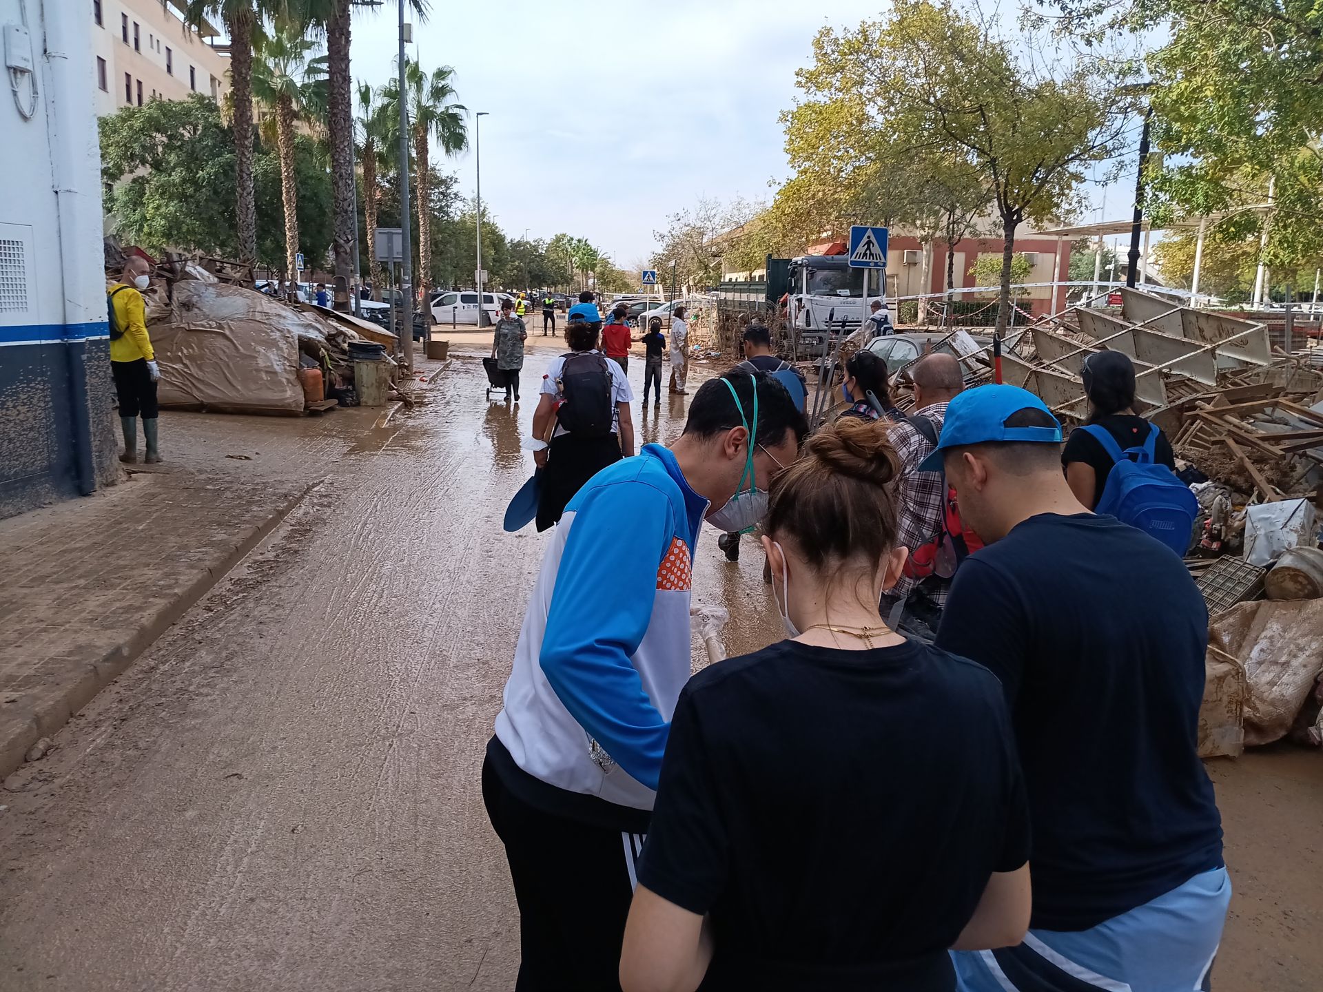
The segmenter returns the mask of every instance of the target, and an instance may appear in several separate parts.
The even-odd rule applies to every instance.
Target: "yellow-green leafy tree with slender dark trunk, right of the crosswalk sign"
[[[1020,224],[1069,212],[1089,168],[1123,147],[1129,120],[1129,107],[1117,97],[1125,66],[1053,60],[1041,53],[1043,44],[1024,30],[1012,42],[995,20],[975,20],[950,0],[897,0],[878,21],[819,32],[814,66],[799,74],[807,103],[869,135],[868,142],[853,135],[847,142],[873,149],[885,144],[890,151],[881,161],[909,173],[897,177],[880,168],[864,179],[913,184],[923,171],[897,156],[922,152],[967,168],[986,185],[1003,234],[999,329],[1009,317]]]

